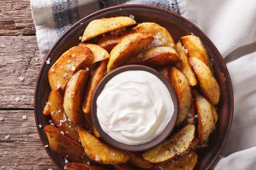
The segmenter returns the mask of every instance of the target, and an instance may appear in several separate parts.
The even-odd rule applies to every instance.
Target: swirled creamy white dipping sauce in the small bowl
[[[137,145],[152,141],[173,116],[169,90],[147,71],[124,71],[106,82],[96,101],[102,130],[116,141]]]

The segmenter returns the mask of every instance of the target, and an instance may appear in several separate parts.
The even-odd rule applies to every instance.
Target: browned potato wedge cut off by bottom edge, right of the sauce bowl
[[[193,170],[197,164],[198,155],[191,150],[190,152],[170,160],[168,163],[158,167],[165,170]]]

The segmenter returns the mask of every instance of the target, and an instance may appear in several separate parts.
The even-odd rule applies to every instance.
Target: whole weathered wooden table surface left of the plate
[[[0,169],[56,169],[35,127],[33,94],[42,60],[30,2],[0,0],[0,7]]]

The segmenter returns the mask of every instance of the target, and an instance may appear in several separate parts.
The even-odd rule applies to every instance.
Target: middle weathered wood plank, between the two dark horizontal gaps
[[[0,36],[0,108],[33,109],[41,63],[35,36]]]

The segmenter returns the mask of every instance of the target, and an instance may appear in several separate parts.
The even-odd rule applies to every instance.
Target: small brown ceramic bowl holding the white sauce
[[[159,78],[159,80],[163,84],[165,84],[165,86],[169,90],[171,99],[173,100],[174,109],[173,109],[173,116],[172,116],[171,120],[165,127],[164,131],[162,131],[162,133],[160,133],[160,135],[158,135],[158,137],[154,138],[152,141],[149,141],[147,143],[138,144],[138,145],[128,145],[126,143],[121,143],[119,141],[116,141],[115,139],[110,137],[107,133],[105,133],[104,129],[102,129],[102,127],[100,126],[100,123],[98,121],[96,101],[98,99],[98,96],[100,95],[100,92],[102,92],[105,84],[107,82],[109,82],[109,80],[111,80],[111,78],[113,78],[115,75],[122,73],[124,71],[137,71],[137,70],[147,71],[149,73],[152,73],[152,74],[156,75],[156,77]],[[102,139],[104,139],[104,141],[106,141],[106,143],[109,143],[111,146],[114,146],[115,148],[131,151],[131,152],[140,152],[143,150],[147,150],[147,149],[150,149],[150,148],[156,146],[161,141],[164,141],[173,131],[175,122],[177,120],[177,111],[178,111],[177,97],[175,95],[175,91],[174,91],[173,87],[171,86],[170,82],[155,69],[152,69],[150,67],[143,66],[143,65],[126,65],[126,66],[114,69],[113,71],[111,71],[110,73],[105,75],[104,78],[98,84],[98,86],[94,92],[94,97],[91,101],[91,118],[96,126],[98,133],[100,133]]]

